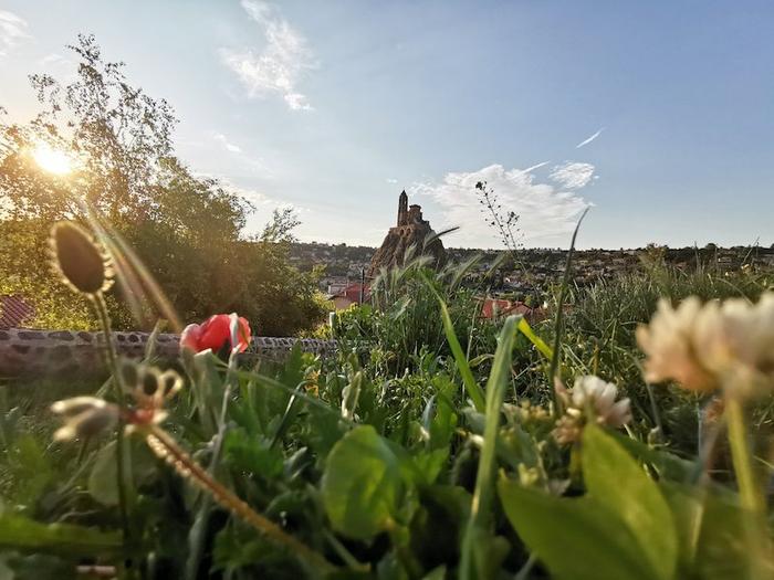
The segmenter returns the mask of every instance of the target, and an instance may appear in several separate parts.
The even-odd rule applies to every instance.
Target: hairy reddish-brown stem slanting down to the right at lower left
[[[248,523],[270,540],[284,546],[291,553],[297,555],[310,566],[324,571],[334,569],[333,565],[323,556],[285,532],[269,518],[253,510],[230,489],[211,477],[166,431],[157,425],[149,425],[147,429],[146,441],[154,453],[164,457],[180,475],[190,478],[207,492],[221,507]]]

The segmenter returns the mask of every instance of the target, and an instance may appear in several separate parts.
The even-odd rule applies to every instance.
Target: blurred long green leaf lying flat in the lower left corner
[[[0,550],[98,556],[122,548],[121,535],[70,524],[41,524],[14,514],[0,514]]]

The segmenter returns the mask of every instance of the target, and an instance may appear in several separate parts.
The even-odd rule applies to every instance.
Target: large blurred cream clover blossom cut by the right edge
[[[742,298],[677,308],[666,299],[649,326],[637,329],[646,355],[645,377],[673,379],[686,389],[709,392],[725,386],[774,384],[774,293],[757,304]]]

